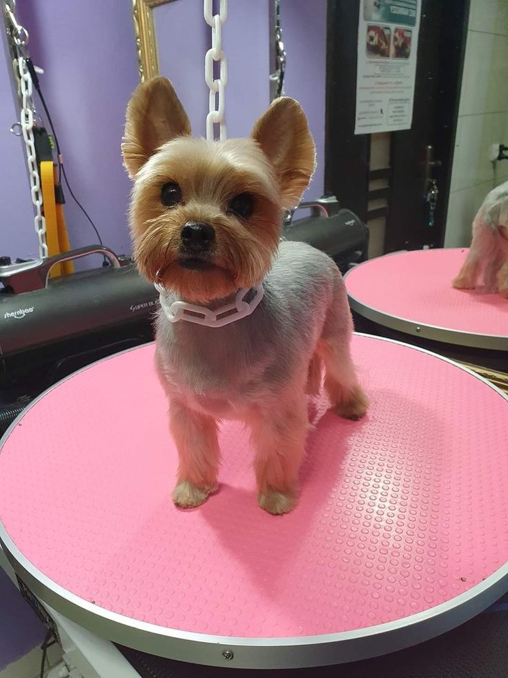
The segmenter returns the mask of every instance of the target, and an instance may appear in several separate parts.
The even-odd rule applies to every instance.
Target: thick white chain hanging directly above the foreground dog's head
[[[212,28],[212,46],[204,58],[204,77],[210,88],[209,113],[206,116],[206,139],[214,141],[219,126],[218,138],[226,139],[224,118],[224,88],[228,84],[228,61],[222,51],[222,26],[228,18],[228,0],[220,0],[219,14],[213,14],[213,0],[204,0],[204,19]],[[219,63],[219,77],[213,77],[213,62]]]

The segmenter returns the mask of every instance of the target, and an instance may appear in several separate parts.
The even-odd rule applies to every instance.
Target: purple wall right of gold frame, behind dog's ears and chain
[[[255,10],[252,0],[229,3],[228,20],[223,28],[229,66],[226,87],[229,137],[248,134],[270,102],[268,6],[269,0],[257,2]],[[312,4],[309,0],[291,0],[281,6],[288,54],[285,91],[304,107],[317,147],[317,170],[305,194],[309,200],[319,198],[324,191],[326,0],[314,0]],[[161,73],[175,85],[196,135],[205,135],[208,111],[204,53],[211,33],[202,11],[202,0],[176,0],[155,9]],[[189,30],[193,31],[193,40],[189,40]]]

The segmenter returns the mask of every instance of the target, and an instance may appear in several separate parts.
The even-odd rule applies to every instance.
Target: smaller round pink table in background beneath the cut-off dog
[[[366,261],[345,276],[351,308],[422,339],[508,350],[508,299],[451,286],[467,252],[419,249]]]

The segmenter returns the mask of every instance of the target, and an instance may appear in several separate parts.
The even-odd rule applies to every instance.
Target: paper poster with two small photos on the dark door
[[[422,0],[361,0],[355,134],[410,129]]]

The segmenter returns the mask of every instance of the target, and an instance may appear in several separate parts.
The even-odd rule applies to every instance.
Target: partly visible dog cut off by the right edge
[[[508,299],[508,181],[487,194],[473,221],[473,240],[453,287],[474,290],[482,279],[488,292]]]

